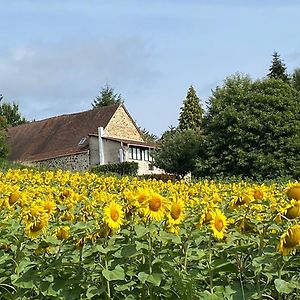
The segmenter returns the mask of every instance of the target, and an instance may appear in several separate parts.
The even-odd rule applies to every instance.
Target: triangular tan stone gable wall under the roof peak
[[[104,137],[143,141],[140,132],[125,109],[120,106],[107,124]]]

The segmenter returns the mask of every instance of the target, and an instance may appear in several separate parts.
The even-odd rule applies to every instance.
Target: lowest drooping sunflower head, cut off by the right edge
[[[296,224],[281,235],[278,252],[282,255],[295,254],[298,245],[300,245],[300,225]]]

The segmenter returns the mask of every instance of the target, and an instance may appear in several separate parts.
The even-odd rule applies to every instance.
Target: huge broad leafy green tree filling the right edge
[[[300,93],[277,79],[235,75],[210,98],[199,176],[300,178]]]

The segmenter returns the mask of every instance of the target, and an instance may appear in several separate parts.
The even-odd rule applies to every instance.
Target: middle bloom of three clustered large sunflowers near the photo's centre
[[[158,193],[153,193],[146,204],[144,213],[146,217],[161,221],[164,218],[166,211],[166,200]]]

